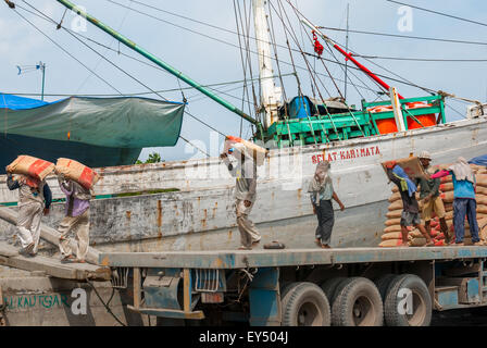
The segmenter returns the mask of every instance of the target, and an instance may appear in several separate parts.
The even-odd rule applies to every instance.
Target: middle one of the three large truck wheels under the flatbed
[[[383,300],[375,284],[364,277],[352,277],[340,284],[332,307],[335,326],[382,326]]]

